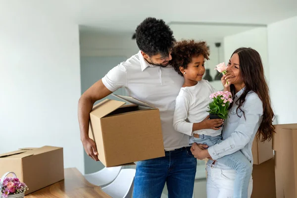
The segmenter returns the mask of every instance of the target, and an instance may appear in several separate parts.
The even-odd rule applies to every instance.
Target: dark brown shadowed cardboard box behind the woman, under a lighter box
[[[259,165],[254,164],[252,179],[251,198],[276,198],[274,158]]]

